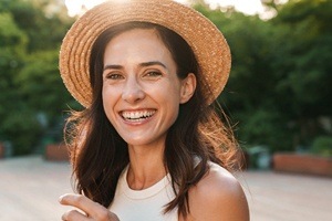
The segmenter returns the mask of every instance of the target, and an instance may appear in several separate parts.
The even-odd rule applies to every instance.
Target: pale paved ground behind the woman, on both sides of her
[[[68,162],[41,157],[0,160],[0,221],[60,221],[70,208],[59,196],[72,192]],[[332,179],[246,171],[237,175],[252,221],[331,221]]]

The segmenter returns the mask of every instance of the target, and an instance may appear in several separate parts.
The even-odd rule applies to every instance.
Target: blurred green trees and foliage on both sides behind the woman
[[[332,1],[266,0],[261,20],[232,8],[194,6],[225,34],[232,53],[218,102],[242,148],[332,156]],[[61,41],[75,18],[59,0],[0,1],[0,141],[13,155],[62,141],[68,110],[81,106],[59,74]]]

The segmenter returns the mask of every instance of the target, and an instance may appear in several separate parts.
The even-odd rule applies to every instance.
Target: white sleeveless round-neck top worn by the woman
[[[175,198],[170,176],[144,190],[133,190],[127,183],[128,166],[118,178],[110,210],[121,221],[177,221],[177,209],[164,214],[165,206]]]

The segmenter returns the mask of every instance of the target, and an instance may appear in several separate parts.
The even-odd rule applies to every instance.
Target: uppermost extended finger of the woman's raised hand
[[[75,207],[91,217],[97,217],[104,211],[104,207],[82,194],[68,193],[60,197],[59,201],[61,204]]]

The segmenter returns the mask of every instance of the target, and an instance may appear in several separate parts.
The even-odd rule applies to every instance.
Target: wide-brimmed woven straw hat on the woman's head
[[[211,94],[221,93],[230,71],[230,51],[220,31],[203,14],[170,0],[112,0],[94,7],[69,30],[60,52],[63,82],[83,106],[92,102],[89,66],[91,49],[106,29],[142,21],[164,25],[183,36],[191,46]],[[206,93],[208,93],[206,91]]]

